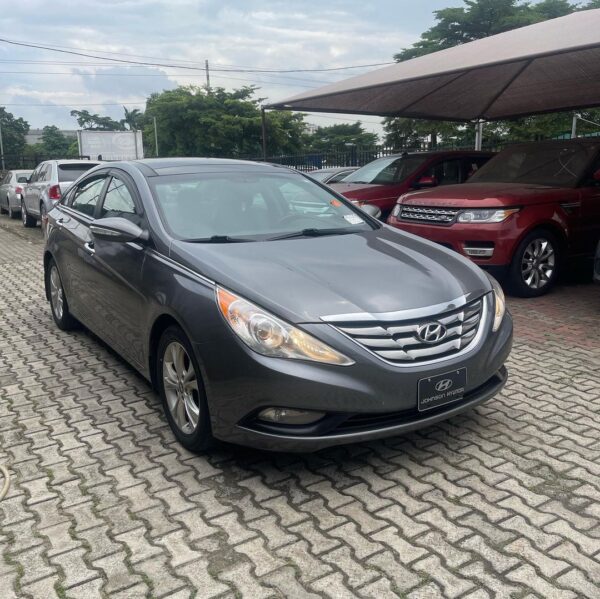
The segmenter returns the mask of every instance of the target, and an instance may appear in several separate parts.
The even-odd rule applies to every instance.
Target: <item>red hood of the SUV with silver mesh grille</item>
[[[564,200],[577,195],[570,187],[523,185],[522,183],[463,183],[443,185],[424,191],[416,191],[402,197],[403,204],[414,206],[495,207],[536,204]]]

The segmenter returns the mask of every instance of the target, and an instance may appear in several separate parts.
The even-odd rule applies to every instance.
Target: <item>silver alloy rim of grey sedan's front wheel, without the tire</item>
[[[200,420],[198,379],[185,347],[172,341],[163,356],[163,386],[169,412],[181,432],[192,434]]]

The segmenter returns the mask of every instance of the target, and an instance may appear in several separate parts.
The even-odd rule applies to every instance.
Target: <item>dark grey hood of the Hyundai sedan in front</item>
[[[174,241],[171,257],[295,323],[450,304],[491,289],[466,258],[387,226],[270,242]]]

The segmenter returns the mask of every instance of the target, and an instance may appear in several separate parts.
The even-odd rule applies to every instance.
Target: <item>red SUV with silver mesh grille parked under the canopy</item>
[[[592,256],[600,238],[600,140],[511,146],[464,185],[405,194],[388,224],[542,295],[564,258]]]

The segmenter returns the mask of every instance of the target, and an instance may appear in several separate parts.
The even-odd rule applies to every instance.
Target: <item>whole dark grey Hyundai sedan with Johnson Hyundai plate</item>
[[[285,167],[97,167],[49,213],[44,269],[57,326],[77,319],[151,380],[190,450],[396,435],[506,381],[493,278]]]

